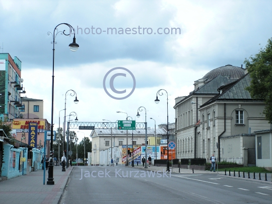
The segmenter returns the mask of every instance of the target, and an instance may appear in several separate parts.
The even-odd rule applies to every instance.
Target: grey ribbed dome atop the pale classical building
[[[203,77],[203,79],[208,79],[208,81],[210,81],[219,75],[227,77],[228,79],[238,80],[242,76],[245,75],[245,69],[239,66],[233,66],[231,64],[227,64],[225,66],[220,66],[212,70],[211,72],[207,73]]]

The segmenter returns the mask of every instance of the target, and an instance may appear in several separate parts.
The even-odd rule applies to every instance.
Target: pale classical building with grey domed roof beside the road
[[[264,103],[252,100],[245,90],[249,85],[245,70],[228,64],[195,81],[195,88],[188,96],[176,99],[177,158],[208,159],[212,154],[221,158],[231,155],[229,151],[243,156],[240,145],[239,150],[231,150],[221,144],[221,139],[226,143],[228,137],[250,135],[257,129],[270,127],[260,114]],[[246,144],[245,140],[252,137],[241,138]]]

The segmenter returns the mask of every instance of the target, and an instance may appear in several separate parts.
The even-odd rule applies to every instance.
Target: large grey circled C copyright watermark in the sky
[[[124,70],[124,71],[126,71],[127,73],[129,73],[130,76],[131,76],[132,79],[133,79],[133,88],[132,88],[132,90],[130,91],[130,93],[129,93],[128,95],[124,96],[124,97],[115,97],[115,96],[112,96],[112,95],[108,92],[108,90],[107,90],[107,88],[106,88],[106,79],[107,79],[108,75],[109,75],[111,72],[113,72],[114,70]],[[126,89],[124,89],[124,90],[122,90],[122,91],[118,91],[118,90],[116,90],[116,89],[114,88],[113,82],[114,82],[114,79],[115,79],[116,77],[118,77],[118,76],[126,77],[126,74],[124,74],[124,73],[116,73],[116,74],[112,75],[111,78],[110,78],[110,81],[109,81],[110,89],[111,89],[112,92],[114,92],[114,93],[116,93],[116,94],[125,94],[125,93],[126,93]],[[104,79],[103,79],[103,88],[104,88],[106,94],[107,94],[109,97],[111,97],[111,98],[113,98],[113,99],[116,99],[116,100],[123,100],[123,99],[128,98],[128,97],[134,92],[135,87],[136,87],[136,81],[135,81],[134,75],[133,75],[128,69],[126,69],[126,68],[124,68],[124,67],[114,67],[113,69],[111,69],[110,71],[107,72],[107,74],[105,75],[105,77],[104,77]]]

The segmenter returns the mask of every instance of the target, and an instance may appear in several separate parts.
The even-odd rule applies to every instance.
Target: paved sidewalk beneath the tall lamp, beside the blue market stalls
[[[45,185],[43,185],[43,170],[2,181],[0,182],[0,202],[5,204],[57,204],[72,169],[73,167],[69,167],[62,172],[61,166],[54,166],[55,185],[46,185],[48,171],[45,171]]]

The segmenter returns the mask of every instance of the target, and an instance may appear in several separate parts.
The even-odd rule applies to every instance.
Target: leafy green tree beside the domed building
[[[272,38],[268,39],[265,48],[260,48],[259,53],[251,55],[244,63],[251,77],[246,90],[251,98],[264,101],[263,114],[272,123]]]

